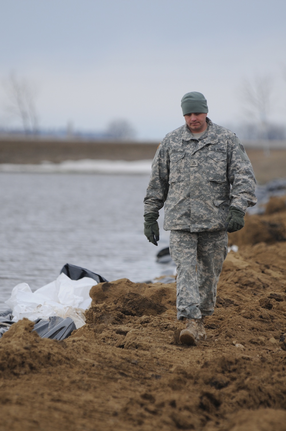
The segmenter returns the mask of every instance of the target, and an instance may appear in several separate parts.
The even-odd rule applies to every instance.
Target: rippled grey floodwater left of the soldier
[[[65,263],[109,281],[160,276],[156,253],[168,247],[169,233],[161,210],[159,247],[143,234],[148,181],[149,175],[0,173],[0,308],[16,284],[35,290]]]

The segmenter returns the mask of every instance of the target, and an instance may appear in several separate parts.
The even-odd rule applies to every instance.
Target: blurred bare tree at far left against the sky
[[[26,133],[37,133],[38,115],[35,106],[37,91],[31,81],[19,79],[11,72],[3,83],[8,103],[6,112],[13,117],[20,117]]]

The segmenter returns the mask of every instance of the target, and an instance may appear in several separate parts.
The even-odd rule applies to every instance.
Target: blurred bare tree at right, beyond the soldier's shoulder
[[[270,76],[257,76],[253,81],[242,83],[242,100],[245,113],[252,121],[258,123],[258,138],[264,141],[264,154],[269,155],[268,125],[272,85]]]

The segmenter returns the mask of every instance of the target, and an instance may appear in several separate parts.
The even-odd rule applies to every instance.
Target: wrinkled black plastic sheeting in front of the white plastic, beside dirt
[[[75,323],[70,317],[53,316],[49,320],[37,319],[34,321],[34,329],[41,338],[50,338],[50,340],[65,340],[75,331]],[[0,313],[0,338],[13,325],[12,314],[9,310]]]

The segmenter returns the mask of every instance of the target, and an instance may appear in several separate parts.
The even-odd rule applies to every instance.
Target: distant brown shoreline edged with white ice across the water
[[[280,142],[280,141],[279,141]],[[264,152],[264,143],[261,147],[253,142],[244,142],[249,159],[255,172],[255,177],[260,184],[264,184],[274,178],[285,178],[286,148],[276,148],[278,141],[271,141],[269,155]],[[283,141],[280,142],[283,144]],[[0,137],[0,166],[1,172],[45,172],[64,171],[68,172],[70,163],[71,172],[87,172],[87,163],[90,173],[147,173],[148,168],[135,169],[136,163],[149,163],[155,156],[159,142],[108,142],[108,141],[63,141],[63,140],[25,140],[25,139],[3,139]],[[283,144],[284,145],[284,144]],[[88,162],[87,162],[88,161]],[[72,166],[72,162],[74,165]],[[114,164],[134,162],[134,169],[126,164],[124,169],[104,168],[103,164],[112,162]],[[85,167],[81,166],[85,163]],[[50,166],[48,166],[50,164]],[[53,166],[52,164],[58,165]],[[63,166],[60,166],[60,165]],[[96,165],[97,164],[97,165]],[[15,165],[13,168],[12,166]],[[21,168],[21,165],[31,165],[30,168]],[[33,168],[33,165],[35,166]],[[101,165],[101,166],[100,166]],[[37,168],[36,166],[40,166]],[[137,168],[138,168],[137,166]]]

